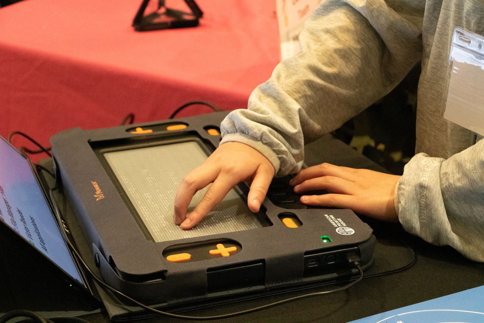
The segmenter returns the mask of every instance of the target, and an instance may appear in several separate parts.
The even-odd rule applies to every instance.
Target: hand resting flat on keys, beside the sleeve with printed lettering
[[[290,185],[298,194],[318,189],[332,192],[302,196],[301,202],[304,204],[351,209],[356,213],[396,222],[398,217],[393,196],[400,177],[324,163],[302,169],[290,181]]]

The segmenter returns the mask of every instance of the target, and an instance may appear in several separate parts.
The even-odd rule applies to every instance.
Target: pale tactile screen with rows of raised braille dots
[[[196,141],[108,152],[104,157],[155,242],[262,227],[234,189],[193,229],[174,224],[173,205],[181,180],[207,159]],[[187,214],[207,189],[197,192]]]

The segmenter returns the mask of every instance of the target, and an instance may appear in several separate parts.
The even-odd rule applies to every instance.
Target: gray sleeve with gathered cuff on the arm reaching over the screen
[[[279,63],[231,112],[223,139],[264,154],[278,175],[302,166],[304,143],[390,92],[420,60],[423,0],[323,0],[300,34],[301,52]]]

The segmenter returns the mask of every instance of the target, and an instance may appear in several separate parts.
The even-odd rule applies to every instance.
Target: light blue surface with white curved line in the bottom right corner
[[[484,286],[351,323],[484,323]]]

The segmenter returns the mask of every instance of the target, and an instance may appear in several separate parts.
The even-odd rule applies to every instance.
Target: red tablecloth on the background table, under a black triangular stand
[[[199,27],[135,32],[140,2],[0,9],[0,135],[20,130],[49,145],[67,128],[118,125],[129,112],[139,122],[165,119],[191,100],[245,108],[279,62],[274,0],[197,0]]]

